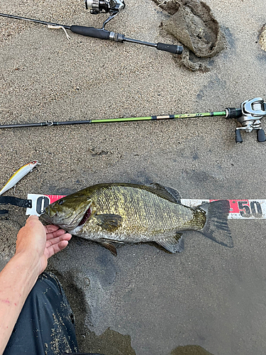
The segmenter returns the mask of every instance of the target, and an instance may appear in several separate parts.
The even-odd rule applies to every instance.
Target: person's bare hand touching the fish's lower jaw
[[[37,216],[30,216],[26,225],[18,231],[16,241],[16,254],[24,253],[38,265],[38,273],[43,273],[48,258],[58,251],[65,249],[71,234],[66,233],[58,226],[50,224],[43,226]]]

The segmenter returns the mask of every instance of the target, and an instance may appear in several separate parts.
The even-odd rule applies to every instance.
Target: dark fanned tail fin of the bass
[[[228,200],[218,200],[199,206],[206,212],[206,223],[201,233],[216,243],[233,247],[233,239],[228,226],[230,204]]]

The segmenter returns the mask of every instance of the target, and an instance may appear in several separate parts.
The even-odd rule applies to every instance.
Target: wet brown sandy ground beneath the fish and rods
[[[167,14],[153,1],[126,4],[108,29],[174,43],[160,30]],[[206,4],[227,45],[205,73],[154,48],[72,33],[69,42],[62,30],[0,18],[1,123],[223,111],[265,99],[266,53],[257,43],[265,1]],[[78,0],[2,0],[1,12],[95,27],[106,18],[90,15]],[[253,132],[236,145],[235,126],[202,118],[2,130],[0,181],[39,160],[38,170],[18,183],[17,197],[67,194],[98,182],[159,182],[183,198],[265,199],[265,143]],[[16,207],[1,220],[1,266],[25,221]],[[229,224],[233,249],[191,234],[177,255],[136,244],[115,257],[73,238],[49,270],[70,299],[80,351],[169,355],[199,345],[214,355],[265,354],[265,220]]]

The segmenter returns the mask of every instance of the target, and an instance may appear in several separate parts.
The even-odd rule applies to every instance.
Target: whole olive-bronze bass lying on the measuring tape
[[[96,241],[117,254],[116,243],[150,242],[170,253],[184,249],[183,234],[198,231],[233,247],[228,200],[192,208],[181,203],[172,187],[157,183],[101,183],[49,204],[40,216],[70,234]]]

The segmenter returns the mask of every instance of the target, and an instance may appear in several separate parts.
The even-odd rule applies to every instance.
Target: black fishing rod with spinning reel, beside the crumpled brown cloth
[[[86,8],[90,9],[90,12],[94,15],[99,13],[110,13],[109,18],[104,21],[102,28],[87,27],[87,26],[67,26],[60,23],[52,23],[48,21],[35,20],[33,18],[26,18],[21,16],[9,15],[6,13],[0,13],[0,16],[7,18],[15,18],[16,20],[31,21],[35,23],[40,23],[41,25],[48,26],[48,28],[60,29],[62,28],[67,35],[67,39],[70,40],[70,36],[67,34],[66,30],[70,30],[73,33],[79,35],[86,35],[87,37],[99,38],[101,40],[113,40],[114,42],[130,42],[140,45],[148,45],[149,47],[154,47],[157,50],[164,50],[165,52],[173,54],[182,54],[183,47],[181,45],[170,45],[165,43],[150,43],[144,42],[143,40],[135,40],[133,38],[127,38],[121,33],[115,33],[112,31],[107,31],[105,29],[106,23],[111,21],[114,17],[121,13],[125,8],[126,4],[124,1],[120,0],[86,0]]]

